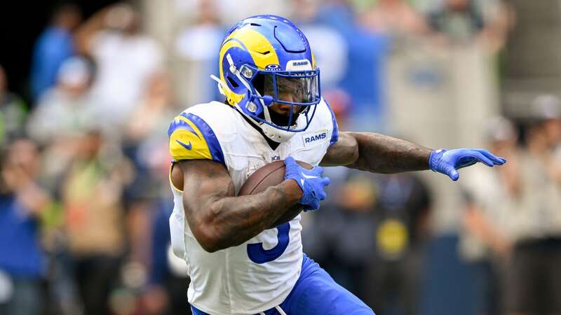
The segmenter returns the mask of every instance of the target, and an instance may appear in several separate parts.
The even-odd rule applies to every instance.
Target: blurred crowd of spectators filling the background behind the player
[[[265,12],[309,38],[340,130],[508,160],[462,172],[445,211],[452,184],[426,176],[438,175],[326,169],[304,251],[379,314],[442,314],[424,306],[445,274],[428,262],[452,232],[473,289],[454,314],[561,314],[561,99],[541,91],[513,116],[498,96],[516,66],[504,57],[516,2],[135,1],[87,18],[62,4],[36,38],[23,97],[0,65],[0,314],[190,314],[170,250],[166,131],[220,99],[210,74],[225,31]]]

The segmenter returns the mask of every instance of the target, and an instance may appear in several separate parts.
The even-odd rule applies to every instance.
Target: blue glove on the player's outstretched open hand
[[[457,169],[474,165],[477,162],[493,167],[493,165],[503,165],[506,160],[479,148],[439,149],[431,152],[428,158],[428,165],[434,172],[446,174],[452,181],[457,181],[460,177]]]

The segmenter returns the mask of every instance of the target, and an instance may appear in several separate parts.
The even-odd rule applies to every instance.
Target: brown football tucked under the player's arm
[[[298,163],[298,165],[306,169],[313,168],[306,162],[296,162]],[[285,168],[286,167],[284,161],[275,161],[265,165],[264,167],[261,167],[260,169],[257,169],[257,171],[251,174],[245,181],[245,183],[243,183],[243,186],[241,186],[238,195],[243,196],[261,193],[269,186],[275,186],[282,183],[285,180]],[[287,223],[288,221],[295,218],[300,212],[302,212],[303,208],[304,206],[302,206],[302,204],[295,204],[294,206],[290,207],[290,209],[288,209],[288,211],[286,211],[283,216],[278,218],[278,220],[269,228],[274,228],[283,223]]]

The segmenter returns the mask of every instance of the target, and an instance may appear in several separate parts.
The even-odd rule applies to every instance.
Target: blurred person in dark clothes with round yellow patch
[[[370,265],[370,300],[381,313],[414,315],[421,304],[432,197],[426,183],[413,174],[374,179],[376,252]]]

